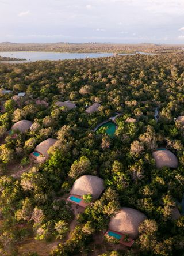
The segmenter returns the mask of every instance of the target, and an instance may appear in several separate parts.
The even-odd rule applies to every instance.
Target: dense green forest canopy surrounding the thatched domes
[[[0,63],[0,254],[20,255],[21,242],[32,238],[56,241],[51,255],[183,255],[184,128],[175,120],[184,115],[183,57]],[[55,104],[68,100],[76,107]],[[87,113],[94,103],[98,111]],[[113,136],[106,129],[95,132],[110,118]],[[31,121],[30,129],[11,130],[21,120]],[[57,140],[49,158],[32,163],[30,154],[48,138]],[[171,151],[176,167],[157,168],[152,153],[158,149]],[[65,196],[82,175],[102,178],[105,190],[71,229],[74,214]],[[93,200],[90,194],[84,199]],[[104,240],[122,207],[147,216],[132,249]]]

